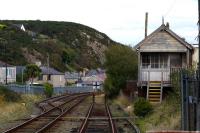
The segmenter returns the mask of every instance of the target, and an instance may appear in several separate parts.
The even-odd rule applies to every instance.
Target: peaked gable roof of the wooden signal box
[[[156,36],[158,36],[158,33],[161,33],[161,32],[167,33],[168,36],[170,36],[174,40],[176,40],[176,42],[179,43],[178,45],[180,48],[173,49],[172,47],[174,47],[174,46],[173,46],[172,42],[170,42],[171,40],[169,40],[169,38],[167,38],[168,37],[167,35],[162,34],[162,35],[160,35],[160,38],[159,37],[156,38]],[[150,35],[148,35],[146,38],[144,38],[141,42],[139,42],[135,46],[135,49],[140,49],[143,45],[149,46],[149,44],[155,45],[154,47],[162,46],[162,49],[161,49],[162,51],[158,51],[158,49],[156,49],[155,51],[157,51],[157,52],[164,52],[164,50],[170,50],[170,48],[172,48],[171,49],[172,52],[176,52],[176,50],[177,50],[177,52],[178,51],[181,52],[185,48],[193,50],[192,45],[187,43],[183,38],[181,38],[176,33],[174,33],[172,30],[170,30],[169,26],[166,26],[165,24],[162,24],[158,29],[156,29],[154,32],[152,32]],[[170,47],[164,46],[163,44],[164,45],[168,44],[168,45],[170,45]]]

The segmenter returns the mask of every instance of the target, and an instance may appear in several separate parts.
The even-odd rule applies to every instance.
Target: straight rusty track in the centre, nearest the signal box
[[[112,119],[112,114],[108,104],[91,104],[85,119],[83,120],[79,133],[117,133],[115,122]],[[90,118],[104,118],[104,119],[90,119]],[[74,131],[76,132],[76,131]]]

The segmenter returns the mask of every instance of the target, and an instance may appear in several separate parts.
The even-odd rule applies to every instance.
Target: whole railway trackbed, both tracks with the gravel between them
[[[4,133],[140,133],[128,119],[112,117],[107,102],[91,96],[82,93],[41,101],[38,105],[45,112]]]

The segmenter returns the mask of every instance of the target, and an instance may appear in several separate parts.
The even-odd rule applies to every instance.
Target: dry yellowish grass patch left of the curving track
[[[6,102],[0,95],[0,132],[9,127],[9,122],[28,118],[34,112],[34,103],[42,100],[40,95],[21,95],[21,100],[17,102]]]

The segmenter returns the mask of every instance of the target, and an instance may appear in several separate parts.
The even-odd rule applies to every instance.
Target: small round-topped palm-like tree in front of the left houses
[[[31,84],[33,84],[33,79],[40,75],[41,69],[35,64],[28,64],[26,66],[25,73],[27,74],[29,80],[31,80]]]

